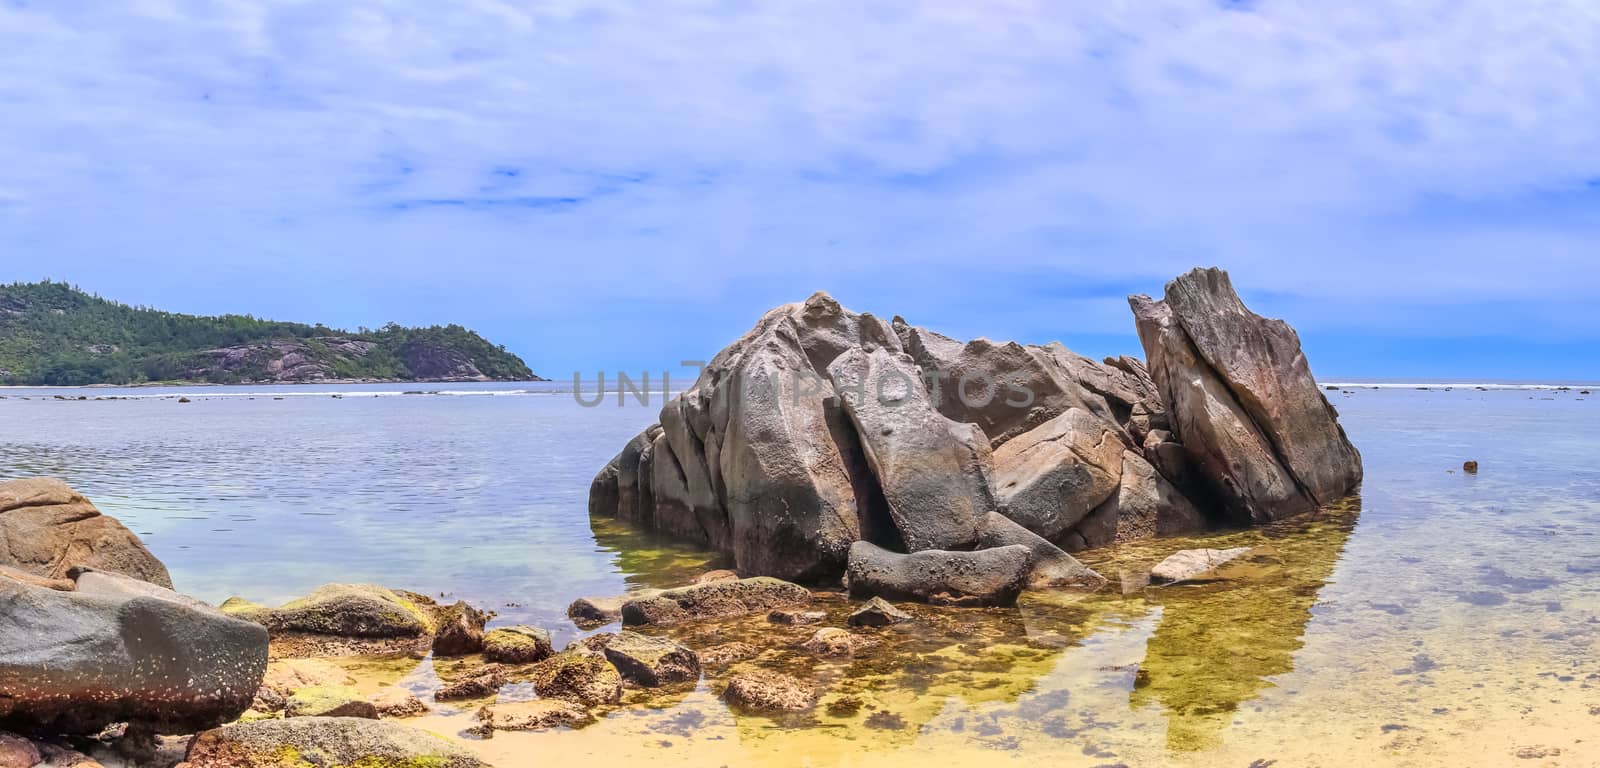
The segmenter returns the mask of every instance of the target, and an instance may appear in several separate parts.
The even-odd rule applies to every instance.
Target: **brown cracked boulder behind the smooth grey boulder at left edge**
[[[50,477],[0,483],[0,565],[46,579],[86,566],[173,586],[166,566],[133,531]]]

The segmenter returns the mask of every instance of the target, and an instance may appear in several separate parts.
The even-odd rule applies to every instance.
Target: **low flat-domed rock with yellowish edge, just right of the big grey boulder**
[[[312,594],[262,611],[243,600],[222,603],[222,611],[280,632],[336,637],[421,637],[434,632],[429,606],[373,584],[323,584]]]

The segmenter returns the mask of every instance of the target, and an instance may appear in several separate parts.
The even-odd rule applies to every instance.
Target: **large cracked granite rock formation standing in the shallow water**
[[[600,470],[590,514],[726,552],[742,574],[837,578],[856,542],[874,560],[1024,544],[1026,584],[1093,589],[1064,550],[1355,490],[1360,456],[1288,325],[1218,270],[1130,301],[1149,366],[960,342],[824,293],[773,309]]]

